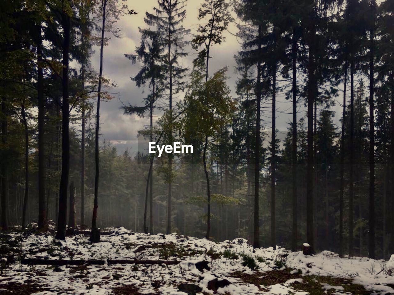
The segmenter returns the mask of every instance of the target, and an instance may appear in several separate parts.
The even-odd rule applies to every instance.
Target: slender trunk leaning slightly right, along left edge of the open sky
[[[93,205],[92,229],[90,234],[90,241],[95,243],[100,241],[97,235],[97,209],[99,208],[99,131],[100,131],[100,97],[101,97],[101,77],[102,77],[102,58],[104,52],[104,33],[105,33],[105,18],[106,18],[107,0],[102,0],[102,28],[101,28],[101,44],[100,44],[100,72],[99,85],[97,89],[97,111],[96,111],[96,134],[95,134],[95,199]]]

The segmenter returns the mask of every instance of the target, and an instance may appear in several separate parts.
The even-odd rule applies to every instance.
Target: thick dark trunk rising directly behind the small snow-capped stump
[[[314,13],[310,20],[310,33],[309,33],[309,60],[308,60],[308,110],[307,110],[307,243],[313,249],[314,247],[314,226],[313,226],[313,186],[314,186],[314,157],[313,157],[313,105],[316,100],[316,78],[315,62],[314,62],[314,46],[316,27],[314,20]],[[313,250],[312,250],[313,251]]]

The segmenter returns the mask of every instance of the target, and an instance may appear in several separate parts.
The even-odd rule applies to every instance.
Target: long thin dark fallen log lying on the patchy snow
[[[179,264],[178,260],[138,260],[138,259],[87,259],[87,260],[63,260],[63,259],[40,259],[40,258],[23,258],[21,264],[27,265],[112,265],[112,264]]]

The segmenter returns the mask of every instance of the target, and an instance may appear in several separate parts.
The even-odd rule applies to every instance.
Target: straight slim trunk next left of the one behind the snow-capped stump
[[[293,96],[293,123],[292,123],[292,202],[293,202],[293,228],[292,251],[297,249],[297,39],[296,30],[292,37],[292,96]]]

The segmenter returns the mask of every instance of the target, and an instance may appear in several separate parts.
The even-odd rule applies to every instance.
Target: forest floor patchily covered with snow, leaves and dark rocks
[[[216,243],[177,234],[106,229],[101,242],[51,232],[0,235],[0,294],[394,294],[388,261],[314,256],[284,248],[253,249],[238,238]],[[103,265],[23,265],[22,258],[104,260]],[[178,260],[179,264],[111,264],[113,259]]]

